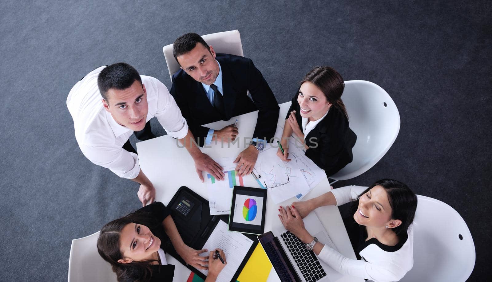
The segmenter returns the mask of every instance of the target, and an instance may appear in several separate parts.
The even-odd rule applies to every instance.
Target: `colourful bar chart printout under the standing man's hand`
[[[215,160],[224,170],[224,180],[215,179],[207,173],[205,181],[209,192],[210,214],[229,214],[231,212],[232,188],[244,186],[243,177],[238,175],[234,169],[234,158],[219,158]]]

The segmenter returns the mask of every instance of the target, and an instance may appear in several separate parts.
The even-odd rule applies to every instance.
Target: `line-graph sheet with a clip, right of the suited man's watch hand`
[[[276,204],[309,191],[297,163],[282,161],[277,156],[277,148],[271,144],[267,144],[258,155],[254,168],[260,173],[258,180],[266,185],[268,194]]]

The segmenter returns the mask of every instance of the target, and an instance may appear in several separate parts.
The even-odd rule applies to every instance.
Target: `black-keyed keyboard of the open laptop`
[[[306,244],[299,238],[290,233],[290,231],[281,234],[280,237],[307,282],[315,282],[326,276],[326,272],[323,270],[316,255],[312,251],[307,251]],[[280,280],[283,281],[281,278]]]

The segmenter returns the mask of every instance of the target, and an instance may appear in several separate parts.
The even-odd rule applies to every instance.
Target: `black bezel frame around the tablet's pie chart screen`
[[[241,192],[246,192],[246,193],[241,193]],[[254,194],[247,194],[247,193],[254,193]],[[238,223],[235,223],[233,221],[234,202],[236,202],[236,195],[237,194],[246,195],[246,196],[254,196],[254,197],[263,197],[261,226],[259,226],[259,229],[255,228],[257,225],[238,224]],[[229,231],[236,231],[236,232],[256,234],[256,235],[263,234],[265,231],[266,213],[267,213],[267,189],[244,187],[244,186],[234,186],[234,190],[232,192],[231,213],[229,215]],[[241,226],[239,226],[239,225],[241,225]],[[245,225],[251,226],[251,227],[244,227]]]

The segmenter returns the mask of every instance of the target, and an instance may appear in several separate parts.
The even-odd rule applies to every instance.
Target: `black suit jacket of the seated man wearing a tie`
[[[217,54],[216,59],[222,69],[225,120],[259,110],[252,138],[270,141],[275,135],[279,107],[261,72],[251,59],[242,56]],[[248,90],[252,101],[247,96]],[[203,85],[181,69],[173,75],[171,95],[195,140],[203,146],[209,128],[201,125],[223,119],[207,98]]]

